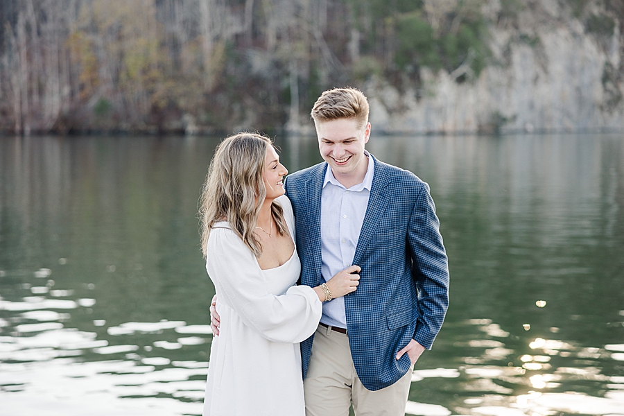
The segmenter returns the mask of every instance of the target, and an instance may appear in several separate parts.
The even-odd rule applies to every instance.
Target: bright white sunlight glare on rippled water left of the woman
[[[46,315],[46,319],[49,318],[53,316]],[[107,340],[96,339],[96,333],[42,326],[49,324],[53,322],[15,327],[19,331],[29,325],[33,330],[28,332],[34,332],[38,325],[36,329],[40,332],[34,336],[24,336],[24,331],[14,332],[13,336],[0,336],[0,395],[3,408],[15,410],[12,415],[32,414],[48,406],[54,406],[59,415],[200,414],[207,363],[172,363],[166,357],[140,356],[137,356],[139,361],[130,361],[128,354],[125,360],[77,361],[77,358],[67,356],[78,357],[88,351],[118,356],[137,352],[139,346],[107,345]],[[149,333],[184,328],[181,325],[184,322],[128,322],[125,328]],[[205,332],[203,326],[195,327],[182,330],[182,333]],[[180,340],[186,340],[187,345],[205,342],[199,337]],[[161,343],[166,343],[161,345],[165,349],[173,344],[166,341],[154,344]],[[175,400],[166,399],[166,396]],[[24,406],[26,398],[28,406]],[[19,413],[21,408],[24,413]],[[79,413],[85,409],[89,409],[88,413]]]

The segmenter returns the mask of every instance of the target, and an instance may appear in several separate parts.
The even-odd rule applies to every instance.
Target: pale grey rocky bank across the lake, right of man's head
[[[422,68],[419,85],[404,88],[370,79],[363,89],[374,129],[624,131],[624,16],[602,3],[575,16],[571,3],[530,1],[513,19],[501,21],[501,3],[487,2],[492,64],[478,77],[462,67],[450,74]]]

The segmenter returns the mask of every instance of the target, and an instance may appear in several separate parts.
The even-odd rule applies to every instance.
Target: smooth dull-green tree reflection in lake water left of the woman
[[[181,309],[203,322],[212,289],[196,202],[216,141],[187,141],[1,141],[11,158],[0,168],[0,269],[51,268],[55,288],[97,297],[98,314],[73,317],[80,322],[171,319]]]

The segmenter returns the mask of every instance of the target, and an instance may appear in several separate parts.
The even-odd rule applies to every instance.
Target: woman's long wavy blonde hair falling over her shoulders
[[[202,189],[200,219],[202,252],[207,256],[210,230],[215,223],[227,220],[256,257],[262,245],[254,234],[260,207],[266,197],[263,173],[271,139],[257,133],[241,132],[227,137],[217,146]],[[288,235],[284,210],[275,202],[271,215],[279,234]]]

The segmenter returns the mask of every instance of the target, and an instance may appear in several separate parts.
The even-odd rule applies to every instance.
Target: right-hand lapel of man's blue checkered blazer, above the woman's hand
[[[390,180],[388,173],[382,164],[377,162],[377,159],[373,157],[375,163],[375,171],[372,181],[372,187],[370,189],[370,197],[368,198],[368,206],[366,208],[366,214],[364,216],[364,223],[360,231],[358,238],[358,245],[353,257],[353,264],[359,264],[362,258],[362,254],[366,250],[370,239],[375,233],[376,226],[385,211],[386,205],[390,201],[390,191],[388,184]]]

